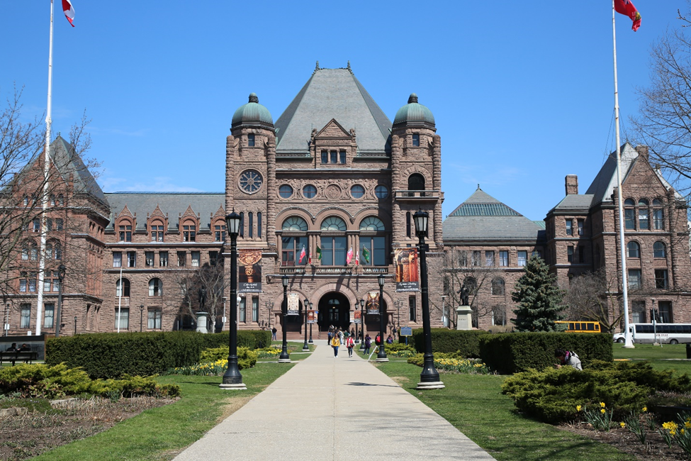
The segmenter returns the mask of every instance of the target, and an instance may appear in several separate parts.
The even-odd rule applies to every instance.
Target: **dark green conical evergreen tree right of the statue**
[[[558,331],[554,321],[561,320],[564,293],[555,284],[556,276],[539,256],[533,256],[525,266],[525,274],[516,282],[511,299],[518,303],[512,322],[517,331]]]

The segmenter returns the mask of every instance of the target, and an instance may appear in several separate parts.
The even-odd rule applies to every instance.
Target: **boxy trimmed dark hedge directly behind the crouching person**
[[[583,367],[592,360],[612,362],[612,335],[608,333],[502,333],[479,338],[480,358],[499,374],[554,367],[555,349],[573,350]]]

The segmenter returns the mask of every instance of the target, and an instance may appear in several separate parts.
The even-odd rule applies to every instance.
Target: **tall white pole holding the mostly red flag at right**
[[[619,138],[619,84],[617,83],[617,29],[615,27],[614,0],[612,0],[612,45],[614,49],[614,125],[617,133],[617,211],[619,212],[619,255],[622,258],[622,304],[624,305],[624,348],[634,348],[629,332],[629,287],[627,285],[627,258],[624,243],[624,207],[622,204],[622,143]]]

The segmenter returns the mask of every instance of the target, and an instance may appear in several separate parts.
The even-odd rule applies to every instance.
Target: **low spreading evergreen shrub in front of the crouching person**
[[[621,419],[646,406],[656,391],[686,392],[691,389],[687,374],[657,371],[647,362],[596,362],[590,369],[528,370],[505,379],[502,392],[517,408],[546,423],[578,418],[581,406],[605,403]]]

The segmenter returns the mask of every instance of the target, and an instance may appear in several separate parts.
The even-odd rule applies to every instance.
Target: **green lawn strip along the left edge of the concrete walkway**
[[[162,384],[179,384],[181,399],[150,409],[93,435],[33,458],[37,461],[172,460],[199,440],[210,428],[259,394],[291,364],[262,364],[242,370],[247,391],[218,387],[221,377],[170,375],[158,377]]]

